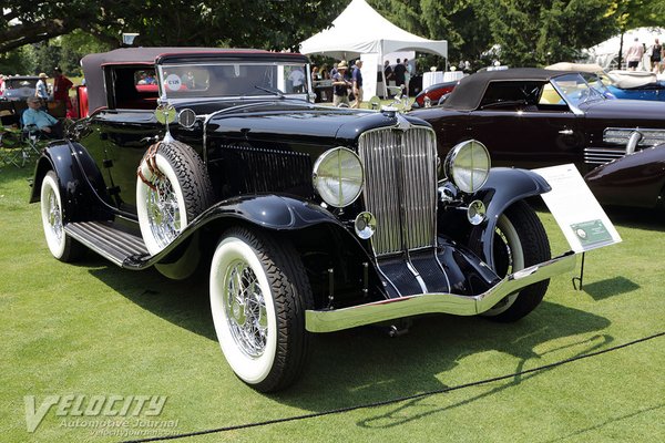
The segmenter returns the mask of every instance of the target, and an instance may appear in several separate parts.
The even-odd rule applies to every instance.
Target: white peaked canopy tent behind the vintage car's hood
[[[364,61],[361,72],[366,97],[376,94],[377,72],[383,72],[383,56],[398,51],[428,52],[448,58],[448,41],[415,35],[386,20],[365,0],[351,0],[332,20],[330,28],[300,43],[303,54],[323,54],[347,61],[360,58]],[[386,84],[385,79],[382,84]],[[385,86],[382,93],[386,95]]]

